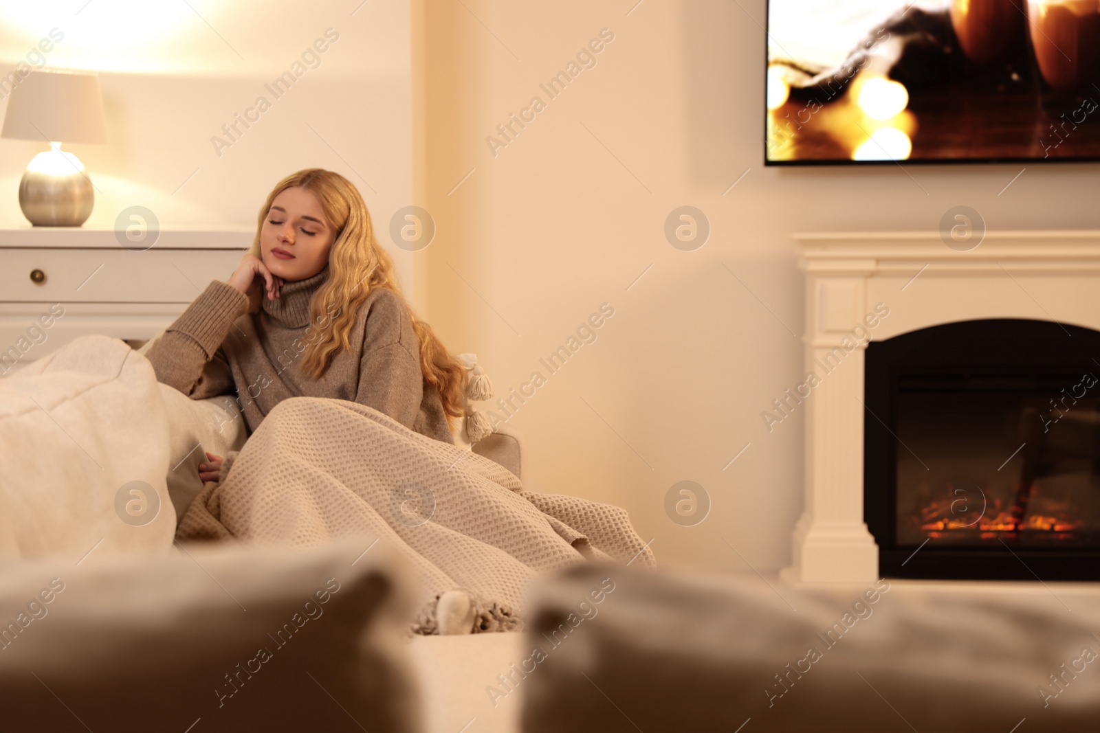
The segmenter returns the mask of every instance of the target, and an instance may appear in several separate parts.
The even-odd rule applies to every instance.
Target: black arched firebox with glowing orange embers
[[[993,319],[868,344],[880,573],[1100,579],[1100,332]]]

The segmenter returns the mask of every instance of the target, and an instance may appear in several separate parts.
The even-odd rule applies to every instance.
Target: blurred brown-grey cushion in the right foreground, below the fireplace
[[[525,733],[1097,730],[1094,587],[772,584],[569,568],[488,693]]]

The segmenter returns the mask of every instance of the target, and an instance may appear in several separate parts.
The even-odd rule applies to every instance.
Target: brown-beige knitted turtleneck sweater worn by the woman
[[[196,400],[235,391],[250,435],[288,397],[327,397],[372,407],[453,443],[439,390],[424,381],[408,308],[393,290],[367,293],[348,334],[351,349],[339,351],[320,379],[301,371],[305,346],[322,325],[310,327],[309,301],[328,276],[326,265],[285,282],[275,300],[264,291],[254,314],[244,293],[211,281],[146,353],[157,380]],[[227,471],[223,466],[222,478]]]

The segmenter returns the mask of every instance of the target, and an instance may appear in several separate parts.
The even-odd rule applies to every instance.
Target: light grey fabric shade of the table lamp
[[[107,142],[97,74],[37,69],[11,91],[0,136],[54,143]]]

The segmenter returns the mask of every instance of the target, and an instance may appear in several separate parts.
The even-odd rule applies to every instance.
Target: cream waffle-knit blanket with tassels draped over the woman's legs
[[[267,414],[176,536],[310,546],[349,535],[362,536],[364,551],[385,543],[420,570],[413,628],[424,634],[436,631],[448,590],[475,597],[475,631],[508,631],[521,624],[528,582],[541,571],[586,558],[653,564],[618,507],[532,493],[488,458],[373,408],[308,397]]]

